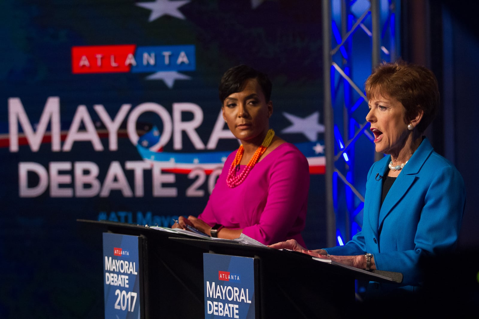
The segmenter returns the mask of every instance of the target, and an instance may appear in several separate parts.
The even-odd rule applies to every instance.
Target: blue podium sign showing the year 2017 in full
[[[143,318],[140,236],[103,233],[105,319]]]

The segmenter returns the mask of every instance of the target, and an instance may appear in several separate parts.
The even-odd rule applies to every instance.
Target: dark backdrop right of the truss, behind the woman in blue
[[[474,11],[460,1],[402,1],[403,58],[429,66],[436,75],[442,109],[427,132],[434,149],[452,161],[466,184],[466,210],[460,250],[479,249],[479,150],[477,76],[479,25]],[[451,190],[454,191],[454,190]],[[477,263],[474,254],[470,255]]]

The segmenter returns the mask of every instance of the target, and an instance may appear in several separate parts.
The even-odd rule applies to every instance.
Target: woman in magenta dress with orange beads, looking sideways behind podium
[[[235,239],[244,233],[264,244],[295,239],[304,245],[308,161],[270,129],[271,90],[269,78],[249,66],[223,75],[223,118],[241,145],[229,154],[203,212],[180,216],[173,228],[188,224],[212,237]]]

